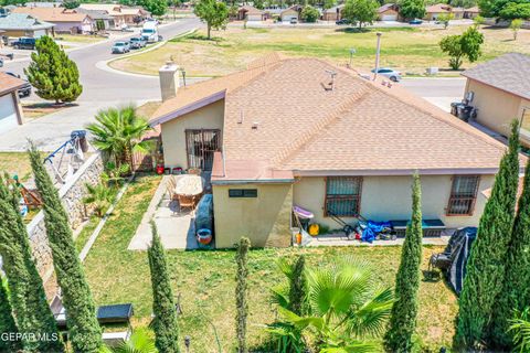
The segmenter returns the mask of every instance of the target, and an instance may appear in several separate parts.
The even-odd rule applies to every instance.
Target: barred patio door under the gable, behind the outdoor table
[[[213,153],[221,150],[221,130],[186,130],[188,168],[212,171]]]

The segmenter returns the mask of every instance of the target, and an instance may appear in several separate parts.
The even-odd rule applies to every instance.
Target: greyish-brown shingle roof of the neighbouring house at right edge
[[[481,82],[516,96],[530,99],[530,56],[508,53],[466,69],[468,78]]]

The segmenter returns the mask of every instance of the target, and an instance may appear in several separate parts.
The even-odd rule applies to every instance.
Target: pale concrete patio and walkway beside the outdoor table
[[[174,212],[178,205],[169,200],[166,189],[168,179],[165,175],[147,208],[135,236],[128,246],[129,250],[146,250],[151,244],[150,221],[155,220],[158,235],[166,249],[197,249],[194,218],[190,213],[179,214]],[[176,210],[177,207],[177,210]]]

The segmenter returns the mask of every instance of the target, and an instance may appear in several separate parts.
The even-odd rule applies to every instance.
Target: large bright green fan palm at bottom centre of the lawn
[[[310,314],[297,315],[278,307],[283,318],[280,324],[295,327],[303,336],[315,332],[314,341],[320,352],[377,351],[367,341],[384,332],[393,295],[391,288],[378,286],[373,274],[369,263],[352,257],[308,269],[306,276]],[[280,332],[276,331],[276,335]]]

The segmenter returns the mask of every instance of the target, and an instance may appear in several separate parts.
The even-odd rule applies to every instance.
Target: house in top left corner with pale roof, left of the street
[[[0,30],[6,31],[2,35],[8,38],[52,35],[54,26],[53,23],[41,21],[25,13],[10,13],[0,17]]]

